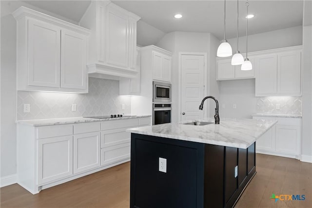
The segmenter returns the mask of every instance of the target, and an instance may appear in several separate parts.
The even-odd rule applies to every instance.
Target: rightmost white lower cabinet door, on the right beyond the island
[[[276,125],[276,151],[300,154],[300,127]]]

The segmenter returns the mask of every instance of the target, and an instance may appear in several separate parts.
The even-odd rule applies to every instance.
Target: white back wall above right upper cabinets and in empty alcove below
[[[235,52],[236,38],[228,39],[228,41]],[[245,53],[246,37],[240,37],[238,42],[239,51]],[[249,52],[295,45],[302,45],[302,26],[248,36]],[[251,118],[251,114],[257,113],[254,79],[219,81],[219,91],[220,116]],[[225,104],[225,109],[222,109],[222,104]],[[236,110],[233,109],[233,104],[236,104]]]

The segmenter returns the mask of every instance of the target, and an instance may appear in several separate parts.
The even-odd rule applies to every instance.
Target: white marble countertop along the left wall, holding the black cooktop
[[[51,119],[36,119],[36,120],[19,120],[16,121],[16,123],[29,126],[49,126],[49,125],[74,124],[74,123],[120,120],[120,119],[142,118],[142,117],[151,117],[151,115],[132,115],[130,117],[103,118],[103,119],[85,118],[85,117],[51,118]]]

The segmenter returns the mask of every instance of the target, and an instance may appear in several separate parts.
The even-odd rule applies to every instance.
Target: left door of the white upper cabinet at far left
[[[40,20],[28,20],[28,85],[60,86],[60,28]]]

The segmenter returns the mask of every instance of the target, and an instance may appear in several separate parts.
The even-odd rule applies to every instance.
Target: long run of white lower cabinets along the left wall
[[[104,170],[130,160],[129,128],[151,117],[60,124],[17,125],[17,182],[29,192]]]

